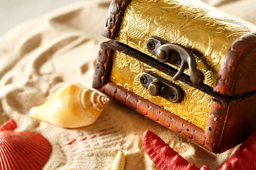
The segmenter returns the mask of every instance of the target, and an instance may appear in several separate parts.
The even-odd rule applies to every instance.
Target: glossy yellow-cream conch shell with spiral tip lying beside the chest
[[[109,101],[82,85],[69,84],[43,105],[31,108],[30,116],[60,127],[83,127],[93,124]]]

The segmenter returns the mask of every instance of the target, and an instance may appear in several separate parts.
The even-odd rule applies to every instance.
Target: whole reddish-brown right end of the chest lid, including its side
[[[213,88],[215,92],[233,96],[256,90],[255,49],[256,31],[245,34],[233,42],[221,63]],[[250,58],[250,62],[245,63],[244,60],[247,58]],[[246,78],[244,74],[247,74]]]

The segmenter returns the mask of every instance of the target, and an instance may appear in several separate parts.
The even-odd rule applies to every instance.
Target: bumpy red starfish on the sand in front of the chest
[[[189,163],[150,130],[144,132],[142,144],[145,152],[159,170],[211,170],[206,165],[199,169]],[[218,170],[256,170],[254,156],[256,156],[256,131]]]

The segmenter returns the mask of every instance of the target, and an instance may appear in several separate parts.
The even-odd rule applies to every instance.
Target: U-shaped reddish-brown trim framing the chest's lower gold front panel
[[[155,122],[185,136],[213,153],[224,152],[224,150],[219,150],[219,143],[221,141],[222,130],[226,119],[226,105],[213,99],[207,128],[202,130],[134,93],[127,91],[125,88],[122,88],[113,82],[109,82],[114,54],[113,48],[109,45],[110,42],[112,42],[112,40],[103,42],[99,48],[99,57],[96,61],[93,77],[93,88],[102,91],[106,95],[121,102],[123,105],[126,105]]]

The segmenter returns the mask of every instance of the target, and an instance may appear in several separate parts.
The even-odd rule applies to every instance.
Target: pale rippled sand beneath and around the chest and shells
[[[256,23],[251,17],[254,0],[208,3]],[[79,129],[55,127],[29,116],[30,108],[45,102],[62,85],[76,82],[91,88],[99,44],[107,40],[101,31],[108,5],[108,1],[76,3],[29,20],[0,38],[0,125],[14,118],[18,131],[40,133],[49,140],[52,153],[44,170],[108,170],[119,150],[126,156],[125,170],[157,170],[141,144],[145,130],[157,133],[198,167],[218,168],[238,146],[222,154],[210,153],[113,100],[96,123]]]

